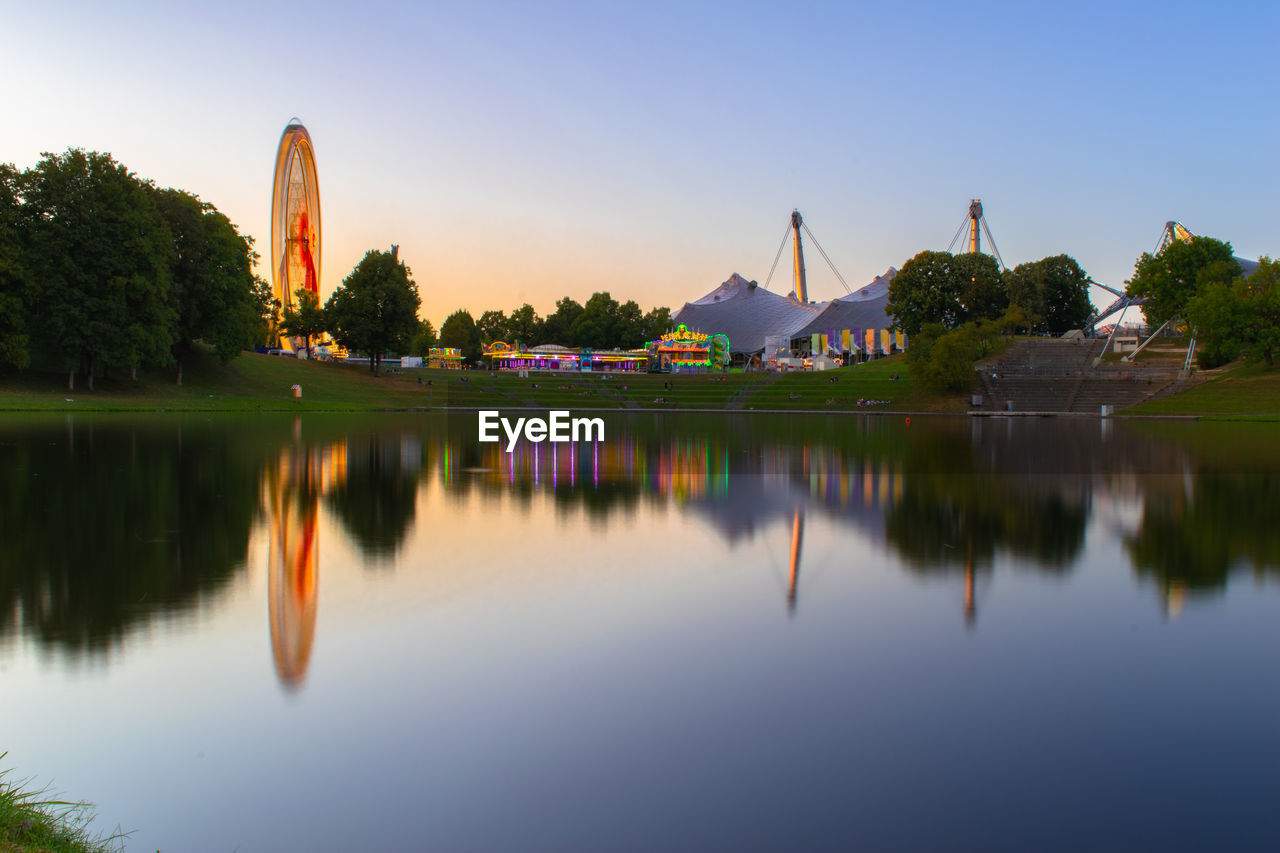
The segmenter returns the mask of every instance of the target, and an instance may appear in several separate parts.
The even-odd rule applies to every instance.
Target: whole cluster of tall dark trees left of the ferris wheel
[[[227,361],[264,341],[269,284],[252,238],[212,205],[110,154],[0,164],[0,365],[83,373],[178,368],[196,341]]]

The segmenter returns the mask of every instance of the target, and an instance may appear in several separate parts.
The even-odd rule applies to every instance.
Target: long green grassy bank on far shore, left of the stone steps
[[[0,411],[380,411],[452,407],[643,410],[817,410],[961,412],[963,396],[932,394],[901,356],[820,373],[723,375],[532,374],[367,368],[242,353],[228,365],[207,353],[174,370],[100,377],[88,391],[65,374],[0,373]],[[302,387],[302,398],[291,388]],[[874,402],[869,402],[874,401]]]

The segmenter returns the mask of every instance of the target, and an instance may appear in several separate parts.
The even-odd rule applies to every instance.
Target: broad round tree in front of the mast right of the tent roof
[[[1007,304],[1000,268],[989,255],[923,251],[890,282],[886,310],[895,328],[915,336],[928,323],[954,329],[969,320],[996,319]]]

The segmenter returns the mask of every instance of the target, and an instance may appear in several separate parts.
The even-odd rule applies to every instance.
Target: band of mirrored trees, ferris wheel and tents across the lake
[[[340,530],[364,566],[393,566],[426,488],[454,506],[549,502],[605,526],[641,505],[672,507],[730,548],[788,529],[792,615],[805,525],[818,520],[886,565],[954,583],[969,625],[1005,564],[1074,571],[1093,521],[1170,613],[1233,571],[1280,567],[1272,428],[645,415],[608,434],[506,453],[479,444],[467,418],[5,423],[0,638],[105,654],[157,619],[205,612],[250,565],[261,524],[275,671],[301,685],[320,530]]]

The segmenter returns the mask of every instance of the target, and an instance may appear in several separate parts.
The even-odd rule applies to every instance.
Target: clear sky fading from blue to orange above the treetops
[[[1010,266],[1066,252],[1114,287],[1170,219],[1280,251],[1280,4],[0,0],[0,161],[109,151],[266,256],[297,117],[321,297],[397,243],[436,328],[764,283],[792,209],[854,288],[946,248],[970,199]],[[806,250],[810,298],[844,295]]]

